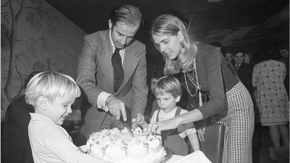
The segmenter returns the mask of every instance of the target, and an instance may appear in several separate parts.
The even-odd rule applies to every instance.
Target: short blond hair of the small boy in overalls
[[[181,84],[174,76],[161,77],[153,88],[155,96],[164,95],[166,93],[172,94],[174,98],[182,95]]]

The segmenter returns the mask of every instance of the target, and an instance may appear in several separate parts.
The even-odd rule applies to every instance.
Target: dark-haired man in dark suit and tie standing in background
[[[244,63],[245,53],[242,50],[234,52],[233,59],[235,61],[234,68],[241,82],[245,85],[253,98],[254,88],[252,86],[252,73],[253,68],[250,64]]]

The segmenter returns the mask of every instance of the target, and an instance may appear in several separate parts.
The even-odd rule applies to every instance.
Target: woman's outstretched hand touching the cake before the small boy
[[[174,117],[165,121],[149,124],[147,126],[147,131],[149,134],[161,134],[161,131],[177,128],[180,123],[179,117]]]

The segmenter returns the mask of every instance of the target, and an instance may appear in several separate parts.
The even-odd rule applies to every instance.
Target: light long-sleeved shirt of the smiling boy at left
[[[33,160],[37,162],[106,162],[82,153],[73,144],[72,138],[62,126],[51,118],[37,113],[29,113],[29,141]]]

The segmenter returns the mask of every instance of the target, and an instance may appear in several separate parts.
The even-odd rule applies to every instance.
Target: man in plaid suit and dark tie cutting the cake
[[[86,137],[104,128],[123,129],[127,116],[134,129],[137,113],[144,114],[146,48],[134,39],[142,23],[138,7],[119,5],[111,12],[109,29],[84,37],[76,82],[90,103],[81,127]]]

